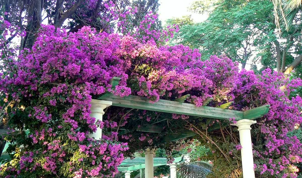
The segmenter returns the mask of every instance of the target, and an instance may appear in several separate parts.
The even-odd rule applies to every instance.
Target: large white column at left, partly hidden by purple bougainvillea
[[[104,109],[111,106],[112,102],[103,100],[91,100],[91,114],[90,117],[96,118],[97,120],[103,121],[103,115],[105,114]],[[102,129],[97,128],[97,131],[90,134],[90,137],[95,137],[96,140],[102,139]]]

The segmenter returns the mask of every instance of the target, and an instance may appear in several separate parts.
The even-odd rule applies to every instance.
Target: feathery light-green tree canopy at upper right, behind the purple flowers
[[[200,49],[203,60],[214,54],[226,55],[242,63],[243,68],[248,62],[253,65],[261,63],[264,68],[274,69],[277,66],[277,52],[280,52],[280,61],[285,52],[284,70],[300,54],[300,23],[294,20],[295,25],[288,32],[279,34],[274,24],[271,1],[198,1],[191,10],[202,13],[209,7],[213,10],[205,22],[182,26],[170,43]],[[276,43],[279,43],[279,50],[276,49]]]

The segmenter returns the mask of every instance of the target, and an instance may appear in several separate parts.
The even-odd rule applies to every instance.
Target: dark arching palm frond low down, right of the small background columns
[[[182,164],[177,167],[180,178],[205,178],[212,172],[212,164],[205,161],[196,161],[190,164]]]

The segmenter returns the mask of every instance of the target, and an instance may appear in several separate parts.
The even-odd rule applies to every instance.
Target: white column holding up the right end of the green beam
[[[255,178],[251,125],[256,123],[253,120],[243,119],[234,124],[238,127],[240,144],[242,146],[241,159],[244,178]]]

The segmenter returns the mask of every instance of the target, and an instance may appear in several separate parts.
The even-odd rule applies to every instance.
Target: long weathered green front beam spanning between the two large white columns
[[[125,108],[183,114],[188,116],[198,116],[222,120],[229,120],[230,118],[236,118],[238,120],[243,119],[242,111],[225,110],[207,106],[197,107],[193,104],[179,103],[167,100],[159,100],[157,103],[152,104],[147,98],[138,96],[128,96],[121,98],[112,94],[104,94],[103,96],[98,98],[98,100],[112,101],[112,106]]]

